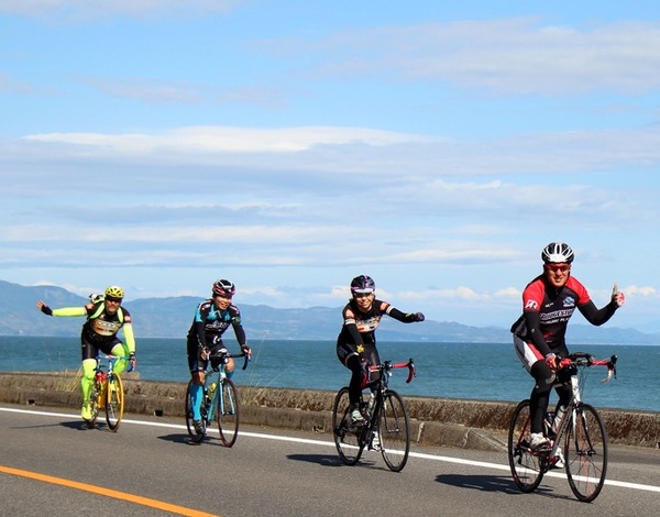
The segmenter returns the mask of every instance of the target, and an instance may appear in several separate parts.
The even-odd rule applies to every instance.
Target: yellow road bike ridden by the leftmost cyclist
[[[89,407],[91,408],[91,418],[85,420],[89,429],[96,427],[96,422],[101,409],[106,410],[106,422],[108,428],[117,432],[124,409],[124,391],[121,376],[112,371],[114,363],[119,360],[130,361],[128,356],[102,354],[96,358],[96,370],[94,376],[94,386],[89,395]],[[129,363],[129,372],[132,365]]]

